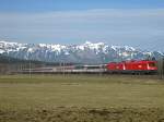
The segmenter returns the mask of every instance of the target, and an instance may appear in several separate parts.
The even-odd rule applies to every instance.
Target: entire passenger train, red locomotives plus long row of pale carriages
[[[157,61],[131,60],[121,62],[109,62],[106,64],[78,64],[62,66],[45,66],[19,70],[19,73],[63,73],[63,74],[154,74],[157,73]]]

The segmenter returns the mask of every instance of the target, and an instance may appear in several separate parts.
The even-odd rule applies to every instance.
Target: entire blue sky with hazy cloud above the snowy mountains
[[[0,0],[0,40],[164,51],[164,0]]]

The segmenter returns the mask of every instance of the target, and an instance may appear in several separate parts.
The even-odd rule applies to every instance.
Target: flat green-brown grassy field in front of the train
[[[0,76],[0,122],[164,122],[164,81],[128,75]]]

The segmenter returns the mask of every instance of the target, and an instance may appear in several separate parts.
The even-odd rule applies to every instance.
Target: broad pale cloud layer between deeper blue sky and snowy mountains
[[[164,9],[0,13],[0,38],[50,44],[103,40],[110,45],[164,50],[163,13]]]

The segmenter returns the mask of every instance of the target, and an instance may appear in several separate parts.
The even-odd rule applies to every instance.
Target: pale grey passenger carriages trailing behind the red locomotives
[[[106,72],[106,69],[99,64],[99,65],[61,65],[61,66],[46,66],[46,68],[33,68],[33,69],[22,69],[16,71],[17,73],[56,73],[56,74],[97,74],[97,73],[104,73]]]

